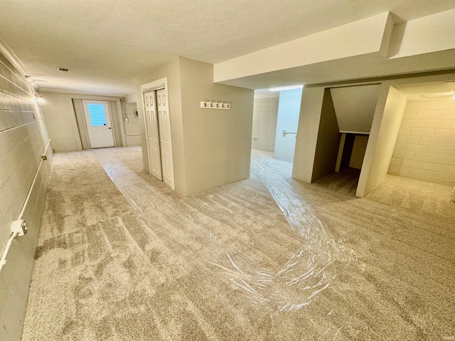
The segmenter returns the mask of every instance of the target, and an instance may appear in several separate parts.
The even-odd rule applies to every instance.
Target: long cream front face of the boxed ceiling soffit
[[[291,40],[248,55],[215,64],[214,81],[223,82],[264,72],[311,65],[381,50],[389,13],[381,13],[327,31]]]

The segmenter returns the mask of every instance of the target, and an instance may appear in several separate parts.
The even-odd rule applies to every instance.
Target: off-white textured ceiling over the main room
[[[218,63],[385,11],[411,20],[452,0],[1,0],[0,36],[42,88],[127,94],[183,57]],[[70,72],[58,72],[66,67]]]

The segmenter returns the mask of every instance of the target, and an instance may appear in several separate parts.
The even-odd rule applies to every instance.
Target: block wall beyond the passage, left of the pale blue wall
[[[277,133],[279,97],[255,98],[251,148],[273,152]]]

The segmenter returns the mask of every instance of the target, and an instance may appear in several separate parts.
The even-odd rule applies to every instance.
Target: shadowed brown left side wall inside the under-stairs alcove
[[[336,120],[331,91],[330,89],[325,89],[311,182],[335,171],[340,139],[341,134]]]

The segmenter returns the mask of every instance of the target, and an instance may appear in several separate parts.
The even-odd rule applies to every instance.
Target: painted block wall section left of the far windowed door
[[[53,150],[81,151],[82,144],[71,99],[66,94],[51,92],[40,92],[40,94],[45,100],[41,108],[52,139]]]

